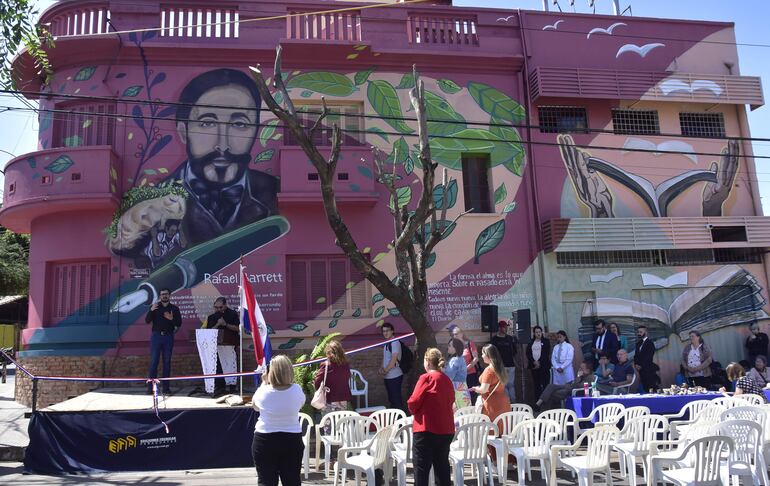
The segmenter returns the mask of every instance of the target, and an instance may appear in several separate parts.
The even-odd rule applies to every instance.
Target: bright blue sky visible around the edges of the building
[[[213,0],[212,0],[213,1]],[[553,0],[547,0],[552,3]],[[588,0],[576,0],[575,7],[569,0],[558,0],[565,12],[590,13]],[[54,1],[36,2],[40,11],[45,10]],[[621,0],[621,8],[631,6],[636,17],[661,17],[689,20],[714,20],[734,22],[738,42],[738,56],[741,74],[759,76],[770,105],[770,36],[767,35],[767,19],[770,18],[770,2],[767,0]],[[465,7],[487,7],[522,10],[541,10],[542,0],[455,0],[454,5]],[[552,10],[557,10],[552,7]],[[611,0],[596,0],[596,11],[612,14]],[[749,46],[741,44],[763,44]],[[5,106],[21,106],[14,98],[0,94],[0,167],[14,156],[32,152],[37,148],[37,115],[29,111],[3,111]],[[749,112],[751,136],[770,138],[770,106]],[[770,141],[754,142],[756,156],[770,156]],[[770,215],[770,159],[756,161],[759,191],[762,207]],[[0,191],[2,191],[0,174]]]

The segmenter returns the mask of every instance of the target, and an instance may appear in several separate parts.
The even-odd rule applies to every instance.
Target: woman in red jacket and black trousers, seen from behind
[[[454,386],[441,372],[444,358],[441,351],[428,348],[423,359],[426,373],[420,376],[407,405],[414,416],[414,462],[415,486],[427,486],[430,469],[436,476],[438,486],[451,486],[449,474],[449,445],[455,433]]]

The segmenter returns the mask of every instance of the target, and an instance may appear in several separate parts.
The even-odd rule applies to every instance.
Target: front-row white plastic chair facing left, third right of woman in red
[[[614,425],[599,425],[586,430],[573,445],[556,445],[551,447],[551,482],[556,482],[556,469],[561,465],[573,471],[578,476],[580,486],[593,484],[593,475],[603,472],[607,483],[612,485],[612,470],[610,469],[610,453],[617,441],[619,431]],[[584,445],[585,455],[574,455]],[[562,453],[569,454],[563,457]]]

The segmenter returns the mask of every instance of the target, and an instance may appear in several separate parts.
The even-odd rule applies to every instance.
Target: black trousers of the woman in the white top
[[[300,486],[302,479],[302,434],[291,432],[254,433],[251,457],[257,468],[259,486]]]

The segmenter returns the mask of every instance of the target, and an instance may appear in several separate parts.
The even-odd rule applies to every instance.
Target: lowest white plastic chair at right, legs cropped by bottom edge
[[[722,458],[735,448],[729,437],[711,435],[696,439],[673,457],[650,457],[650,484],[657,478],[680,486],[722,486]],[[683,464],[687,464],[683,466]],[[664,469],[674,465],[674,469]]]

